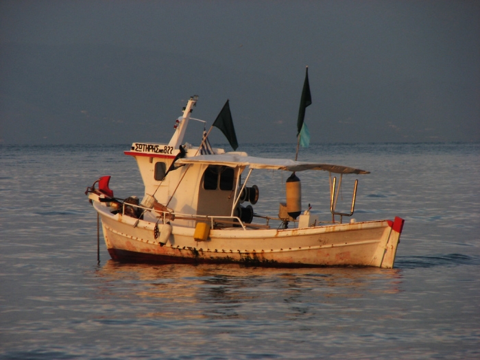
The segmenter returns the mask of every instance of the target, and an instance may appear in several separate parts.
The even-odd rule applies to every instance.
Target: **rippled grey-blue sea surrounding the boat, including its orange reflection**
[[[359,178],[357,221],[406,220],[394,269],[121,264],[103,239],[97,263],[84,191],[111,175],[143,195],[126,149],[0,146],[0,359],[480,359],[479,143],[300,149],[371,171],[344,177],[337,208]],[[257,213],[276,214],[288,175],[254,174]],[[328,173],[298,176],[329,219]]]

